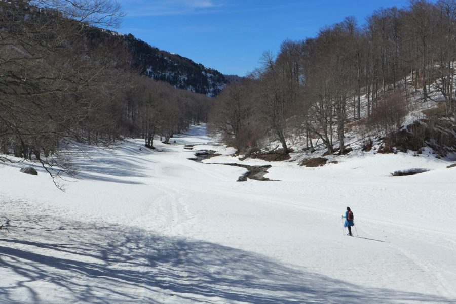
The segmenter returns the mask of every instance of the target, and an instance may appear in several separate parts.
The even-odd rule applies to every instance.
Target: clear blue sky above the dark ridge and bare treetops
[[[319,29],[408,0],[119,0],[127,16],[117,29],[223,74],[244,76],[264,51],[285,39],[315,37]]]

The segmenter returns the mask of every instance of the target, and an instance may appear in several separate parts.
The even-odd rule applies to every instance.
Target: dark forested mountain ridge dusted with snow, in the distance
[[[121,37],[132,53],[133,66],[150,78],[212,97],[217,96],[229,82],[229,79],[217,70],[152,47],[132,34]]]

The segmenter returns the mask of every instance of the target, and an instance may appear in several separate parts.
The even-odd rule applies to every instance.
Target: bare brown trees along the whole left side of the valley
[[[207,96],[141,76],[102,29],[122,17],[110,0],[0,1],[0,161],[33,159],[55,177],[71,171],[66,145],[131,136],[153,147],[206,121]]]

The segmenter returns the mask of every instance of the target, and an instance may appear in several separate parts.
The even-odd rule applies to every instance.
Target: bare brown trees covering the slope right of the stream
[[[260,69],[217,97],[211,129],[247,153],[271,142],[288,153],[296,137],[305,149],[318,138],[329,152],[344,153],[349,122],[395,131],[410,94],[455,115],[455,57],[455,0],[412,0],[373,12],[361,26],[347,17],[314,38],[285,40],[277,56],[264,53]]]

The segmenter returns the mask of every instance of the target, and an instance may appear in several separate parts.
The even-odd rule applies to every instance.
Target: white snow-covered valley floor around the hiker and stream
[[[66,192],[1,166],[0,303],[456,303],[450,162],[355,151],[236,182],[204,126],[175,140],[75,157]],[[223,155],[191,161],[189,144]],[[430,170],[390,176],[412,168]]]

